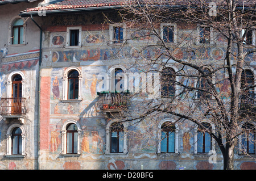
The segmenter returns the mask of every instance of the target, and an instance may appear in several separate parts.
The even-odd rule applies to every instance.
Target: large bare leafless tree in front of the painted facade
[[[256,52],[255,2],[131,0],[119,14],[131,35],[125,41],[143,40],[134,45],[127,66],[159,75],[151,77],[159,84],[150,93],[145,79],[146,96],[130,94],[140,99],[127,121],[163,114],[179,124],[191,121],[217,142],[223,168],[234,169],[234,148],[245,133],[255,135],[255,75],[244,69]],[[203,120],[213,123],[214,131]]]

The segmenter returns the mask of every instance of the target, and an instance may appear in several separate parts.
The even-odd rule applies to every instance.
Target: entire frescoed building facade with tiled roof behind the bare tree
[[[61,1],[40,9],[38,2],[34,2],[26,10],[18,6],[19,3],[0,6],[7,12],[13,8],[9,6],[22,7],[17,7],[16,14],[6,20],[9,27],[1,27],[9,30],[9,34],[6,31],[0,39],[3,47],[1,168],[175,170],[185,166],[186,169],[222,169],[222,155],[216,143],[190,121],[177,125],[173,124],[174,116],[161,115],[157,121],[122,122],[131,113],[139,112],[136,110],[139,98],[129,100],[126,96],[133,92],[129,87],[129,73],[141,73],[130,66],[130,60],[139,57],[137,50],[143,44],[155,40],[147,36],[147,32],[134,32],[121,23],[115,11],[122,6],[118,1],[76,3]],[[1,11],[1,16],[7,12]],[[23,25],[15,25],[17,15]],[[180,41],[176,35],[185,37],[191,32],[201,32],[196,24],[159,22],[159,33],[167,33],[168,27],[172,27],[172,32],[161,36],[170,43]],[[22,28],[26,30],[23,38],[10,39],[16,36],[15,31],[22,35]],[[144,33],[141,36],[144,38],[138,39],[136,33]],[[255,44],[255,34],[251,37]],[[198,41],[199,44],[213,43],[206,39]],[[205,60],[223,60],[225,43],[221,38],[210,41],[214,44],[197,55],[203,54]],[[175,51],[177,57],[185,58],[180,49]],[[157,56],[154,49],[144,53],[145,57]],[[255,53],[246,60],[252,82],[256,76],[255,61]],[[168,67],[175,72],[180,69],[174,62]],[[133,87],[138,80],[134,74]],[[224,82],[220,87],[225,89],[223,85]],[[163,87],[166,93],[161,93],[159,87],[143,92],[141,85],[140,96],[150,99],[179,93],[172,86]],[[197,92],[197,98],[200,96],[203,94]],[[185,104],[177,109],[184,107]],[[214,130],[211,123],[206,122],[205,126]],[[250,156],[255,157],[255,140],[247,147]],[[239,150],[235,154],[235,169],[256,168],[255,161],[248,155]]]

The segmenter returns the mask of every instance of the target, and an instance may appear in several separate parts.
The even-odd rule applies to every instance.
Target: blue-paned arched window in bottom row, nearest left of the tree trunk
[[[206,132],[207,129],[212,129],[209,123],[202,123],[203,127],[197,129],[197,153],[209,153],[212,150],[212,138]]]

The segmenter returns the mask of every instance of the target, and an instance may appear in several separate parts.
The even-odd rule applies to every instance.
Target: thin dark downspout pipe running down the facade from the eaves
[[[40,29],[40,48],[39,48],[39,66],[38,66],[38,164],[37,170],[40,169],[39,167],[39,151],[40,151],[40,90],[41,90],[41,64],[42,64],[42,39],[43,39],[43,30],[39,26],[38,23],[35,22],[33,16],[30,15],[31,20],[36,24],[36,26]]]

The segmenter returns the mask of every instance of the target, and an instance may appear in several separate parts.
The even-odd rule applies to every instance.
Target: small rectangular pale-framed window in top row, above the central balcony
[[[118,45],[124,43],[126,39],[126,26],[122,24],[111,24],[109,26],[109,45]]]

